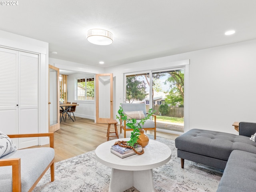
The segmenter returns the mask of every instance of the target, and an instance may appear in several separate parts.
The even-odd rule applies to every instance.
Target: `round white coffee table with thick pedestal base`
[[[116,141],[130,138],[115,139],[100,144],[96,150],[96,159],[112,168],[109,192],[125,191],[134,186],[140,192],[154,192],[153,168],[169,162],[172,151],[161,142],[149,140],[144,147],[144,154],[120,158],[110,152]]]

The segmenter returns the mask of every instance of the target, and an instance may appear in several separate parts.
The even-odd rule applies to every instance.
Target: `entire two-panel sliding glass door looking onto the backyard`
[[[145,103],[155,111],[156,128],[170,133],[184,132],[185,68],[155,70],[126,75],[126,102]]]

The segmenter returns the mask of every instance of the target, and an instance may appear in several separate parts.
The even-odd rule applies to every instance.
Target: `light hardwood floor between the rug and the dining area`
[[[54,133],[55,162],[95,150],[107,141],[107,128],[108,124],[96,124],[94,120],[80,117],[76,117],[75,122],[69,119],[61,122],[60,130]],[[120,134],[119,124],[117,128]],[[111,125],[110,132],[114,132],[114,125]],[[154,132],[147,131],[147,134],[154,135]],[[178,135],[156,132],[156,136],[175,139]],[[113,139],[116,137],[109,138]]]

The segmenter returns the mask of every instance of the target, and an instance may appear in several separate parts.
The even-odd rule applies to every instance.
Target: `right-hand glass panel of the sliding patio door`
[[[158,130],[184,132],[184,68],[152,71],[151,102]]]

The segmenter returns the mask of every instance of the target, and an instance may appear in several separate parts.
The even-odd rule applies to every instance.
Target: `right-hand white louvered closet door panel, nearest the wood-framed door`
[[[18,52],[18,132],[38,133],[38,55]],[[38,145],[38,138],[19,138],[19,148]]]

